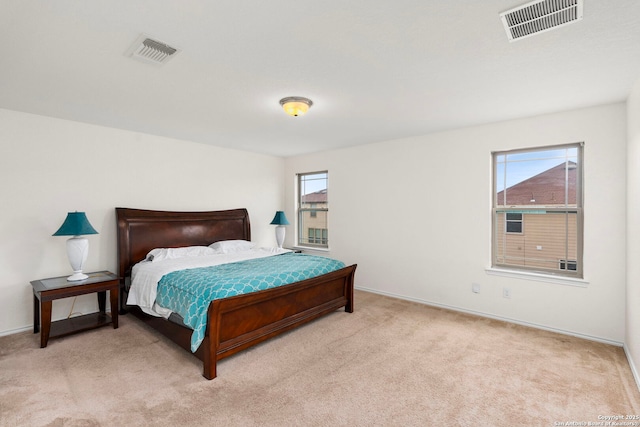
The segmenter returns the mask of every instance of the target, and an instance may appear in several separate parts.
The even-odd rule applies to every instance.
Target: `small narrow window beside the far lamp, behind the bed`
[[[298,174],[298,245],[328,248],[329,173]]]

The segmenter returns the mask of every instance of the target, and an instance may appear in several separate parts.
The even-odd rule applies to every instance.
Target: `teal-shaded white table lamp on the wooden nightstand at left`
[[[82,273],[89,255],[89,240],[86,237],[80,237],[85,234],[98,234],[98,232],[91,226],[84,212],[69,212],[60,229],[53,233],[54,236],[73,236],[67,240],[67,256],[73,269],[73,274],[67,277],[70,282],[89,277]]]

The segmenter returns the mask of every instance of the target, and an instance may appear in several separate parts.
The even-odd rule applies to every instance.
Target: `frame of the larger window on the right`
[[[517,205],[506,205],[506,200],[503,200],[503,205],[498,205],[498,157],[505,156],[505,163],[508,164],[508,156],[513,154],[522,154],[522,153],[535,153],[535,152],[543,152],[543,151],[552,151],[552,150],[561,150],[561,149],[576,149],[576,205],[566,204],[564,206],[556,206],[556,205],[533,205],[533,206],[517,206]],[[567,160],[568,161],[568,160]],[[492,162],[492,188],[491,188],[491,270],[494,271],[511,271],[515,274],[526,274],[526,275],[535,275],[539,277],[557,277],[557,278],[565,278],[568,280],[579,280],[583,281],[584,279],[584,264],[583,264],[583,247],[584,247],[584,205],[583,205],[583,194],[584,194],[584,143],[570,143],[570,144],[561,144],[561,145],[550,145],[550,146],[540,146],[540,147],[531,147],[531,148],[521,148],[514,150],[502,150],[502,151],[494,151],[491,153],[491,162]],[[568,175],[567,175],[568,178]],[[515,184],[513,184],[515,185]],[[513,186],[511,185],[511,186]],[[509,188],[509,187],[507,187]],[[506,188],[505,188],[506,189]],[[501,190],[501,191],[504,191]],[[503,196],[504,197],[504,196]],[[533,198],[533,197],[532,197]],[[524,235],[524,221],[525,215],[522,215],[522,232],[507,232],[507,213],[510,212],[522,212],[523,208],[527,211],[539,211],[539,213],[551,213],[551,212],[560,212],[565,215],[569,215],[571,213],[576,214],[576,256],[575,259],[573,256],[569,256],[568,254],[568,229],[565,230],[565,255],[561,258],[557,259],[558,268],[555,270],[545,269],[541,267],[527,267],[527,266],[515,266],[513,264],[509,265],[505,262],[498,262],[499,254],[498,254],[498,230],[496,227],[504,227],[504,235],[514,235],[514,234],[522,234]],[[503,214],[504,219],[502,223],[499,225],[497,221],[497,215]],[[527,259],[527,258],[525,258]],[[529,258],[530,259],[530,258]],[[565,268],[561,269],[561,259],[568,259],[568,263],[565,261]],[[569,264],[573,264],[575,262],[576,269],[571,269]]]

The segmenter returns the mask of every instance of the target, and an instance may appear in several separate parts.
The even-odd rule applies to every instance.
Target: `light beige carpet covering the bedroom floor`
[[[2,426],[553,426],[640,414],[621,348],[356,292],[218,364],[131,316],[0,338]]]

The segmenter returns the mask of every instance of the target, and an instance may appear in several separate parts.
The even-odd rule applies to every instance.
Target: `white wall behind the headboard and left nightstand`
[[[281,158],[2,109],[0,147],[0,335],[32,327],[31,280],[70,273],[66,238],[51,236],[69,211],[85,211],[99,232],[85,271],[117,271],[115,207],[246,207],[252,240],[275,245]],[[55,301],[54,320],[71,303]],[[73,311],[97,311],[95,295]]]

